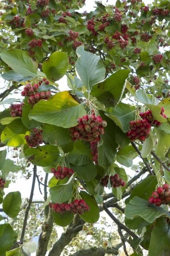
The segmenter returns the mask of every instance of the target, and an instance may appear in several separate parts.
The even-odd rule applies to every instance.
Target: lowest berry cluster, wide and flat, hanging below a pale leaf
[[[55,212],[59,212],[61,214],[63,214],[64,212],[72,212],[74,214],[82,215],[84,214],[84,212],[88,212],[89,210],[89,206],[83,199],[75,199],[74,202],[70,204],[50,204],[50,206]]]

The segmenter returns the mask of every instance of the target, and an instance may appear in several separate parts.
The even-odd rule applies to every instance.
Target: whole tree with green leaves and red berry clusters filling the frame
[[[0,203],[14,219],[0,225],[2,256],[26,255],[22,244],[33,214],[37,166],[46,176],[44,183],[39,180],[45,203],[36,256],[45,256],[55,224],[66,228],[49,246],[49,256],[60,256],[102,211],[116,224],[121,242],[79,248],[71,256],[117,255],[120,247],[129,255],[125,242],[133,256],[143,249],[149,256],[170,251],[170,2],[96,2],[94,12],[78,12],[84,2],[0,3],[0,70],[9,81],[0,103],[11,104],[0,112],[0,145],[20,148],[25,165],[33,166],[17,237],[21,194],[5,195],[4,188],[10,186],[9,172],[20,166],[6,159],[6,149],[0,151]],[[56,82],[64,75],[69,90],[59,91]],[[12,92],[18,92],[17,100],[8,97]],[[134,166],[137,156],[141,161]]]

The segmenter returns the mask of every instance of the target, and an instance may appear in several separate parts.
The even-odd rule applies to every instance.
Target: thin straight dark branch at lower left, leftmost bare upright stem
[[[27,205],[27,208],[26,208],[26,211],[25,211],[25,218],[24,218],[24,221],[23,221],[23,227],[22,227],[22,232],[21,232],[20,244],[23,244],[23,240],[24,240],[25,228],[27,226],[28,214],[29,214],[29,210],[30,210],[31,203],[32,203],[32,200],[33,200],[33,192],[34,192],[34,188],[35,188],[36,174],[37,174],[37,166],[34,165],[34,167],[33,167],[33,181],[32,181],[31,193],[30,193],[28,205]]]

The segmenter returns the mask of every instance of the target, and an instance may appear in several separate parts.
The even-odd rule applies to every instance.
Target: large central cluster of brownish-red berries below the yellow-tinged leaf
[[[104,134],[104,127],[107,126],[107,122],[102,120],[101,116],[95,116],[95,114],[83,116],[78,118],[77,121],[79,124],[70,128],[73,141],[99,141],[100,135]]]

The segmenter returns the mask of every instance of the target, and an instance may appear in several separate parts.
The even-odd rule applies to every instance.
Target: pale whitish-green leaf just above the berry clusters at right
[[[155,98],[152,94],[147,94],[145,90],[137,90],[135,99],[143,104],[158,105],[159,100]]]

